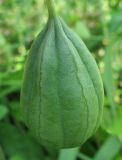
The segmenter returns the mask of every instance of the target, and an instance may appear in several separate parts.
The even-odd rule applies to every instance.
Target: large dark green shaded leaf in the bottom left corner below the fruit
[[[44,160],[41,146],[10,124],[0,123],[0,144],[8,157],[20,155],[23,160]]]

